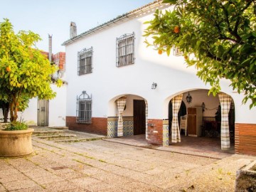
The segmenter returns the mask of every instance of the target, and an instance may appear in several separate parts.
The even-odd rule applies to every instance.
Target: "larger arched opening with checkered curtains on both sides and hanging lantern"
[[[186,128],[188,137],[183,135],[183,132],[180,132],[180,127],[178,127],[178,137],[181,137],[181,139],[178,137],[176,141],[173,139],[173,135],[176,137],[176,131],[172,134],[172,110],[169,98],[167,105],[169,129],[167,128],[166,131],[169,132],[169,135],[171,134],[171,137],[166,138],[166,125],[164,125],[163,144],[170,144],[173,147],[184,146],[185,150],[199,150],[202,152],[204,150],[218,152],[227,150],[228,153],[234,153],[235,105],[233,99],[230,95],[223,92],[219,93],[216,97],[208,95],[208,90],[189,90],[189,93],[193,98],[193,102],[188,103],[186,101],[188,91],[183,92],[180,108],[176,110],[178,113],[176,114],[178,126],[180,126],[178,120],[181,119],[182,113],[187,114]],[[171,99],[175,97],[177,96],[171,97]],[[222,99],[223,97],[225,97],[224,100]],[[185,108],[184,105],[186,105],[186,110],[183,110]],[[225,110],[222,110],[222,112],[225,111],[225,122],[223,122],[223,119],[217,118],[221,114],[218,112],[218,110],[221,110],[219,105],[225,106]],[[191,111],[193,112],[191,113]],[[192,127],[196,127],[195,132],[191,132]]]

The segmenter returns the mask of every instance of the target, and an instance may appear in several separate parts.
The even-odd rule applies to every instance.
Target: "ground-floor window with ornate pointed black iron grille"
[[[86,91],[77,97],[76,122],[92,123],[92,95],[87,95]]]

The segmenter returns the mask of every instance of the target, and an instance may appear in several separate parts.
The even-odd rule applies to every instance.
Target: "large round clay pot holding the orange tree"
[[[0,156],[19,157],[32,154],[33,131],[31,128],[18,131],[0,129]]]

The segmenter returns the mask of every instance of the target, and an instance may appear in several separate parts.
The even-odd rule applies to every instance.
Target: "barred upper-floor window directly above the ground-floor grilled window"
[[[78,75],[92,73],[92,47],[78,52]]]

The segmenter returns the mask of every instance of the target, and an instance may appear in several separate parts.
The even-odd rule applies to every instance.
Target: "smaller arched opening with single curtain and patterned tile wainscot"
[[[143,97],[132,94],[119,95],[110,100],[108,111],[108,137],[145,134],[147,139],[148,106]]]

